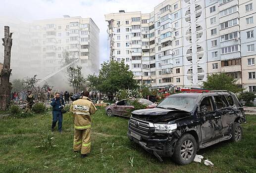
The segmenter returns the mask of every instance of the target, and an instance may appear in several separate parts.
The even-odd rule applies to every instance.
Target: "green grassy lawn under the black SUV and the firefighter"
[[[256,116],[248,115],[241,142],[225,141],[198,152],[214,167],[193,162],[178,166],[160,163],[126,136],[128,120],[107,117],[104,109],[93,117],[92,151],[87,158],[73,152],[73,122],[63,116],[62,134],[51,128],[51,112],[24,119],[0,119],[0,173],[255,173]],[[51,141],[50,146],[42,141]],[[131,161],[133,160],[133,161]]]

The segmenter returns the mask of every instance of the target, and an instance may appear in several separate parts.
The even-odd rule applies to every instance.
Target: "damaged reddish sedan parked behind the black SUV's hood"
[[[109,117],[113,115],[125,116],[125,117],[130,116],[128,112],[129,110],[134,108],[134,106],[132,105],[132,102],[134,100],[135,99],[123,99],[118,101],[115,104],[107,106],[105,109],[107,116]],[[144,98],[140,98],[138,99],[138,101],[142,104],[145,104],[147,106],[147,109],[154,108],[156,106],[156,104]]]

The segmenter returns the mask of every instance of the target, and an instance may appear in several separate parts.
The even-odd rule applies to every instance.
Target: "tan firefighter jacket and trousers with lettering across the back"
[[[74,151],[81,150],[81,154],[88,154],[91,151],[91,115],[96,111],[95,105],[86,96],[71,104],[70,112],[73,112],[75,128]]]

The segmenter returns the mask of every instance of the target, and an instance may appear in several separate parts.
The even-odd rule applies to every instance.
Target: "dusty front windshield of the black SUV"
[[[164,109],[179,109],[191,112],[194,108],[198,95],[171,95],[160,102],[156,107]]]

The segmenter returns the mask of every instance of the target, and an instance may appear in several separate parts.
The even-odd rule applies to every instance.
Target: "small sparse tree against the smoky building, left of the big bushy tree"
[[[78,89],[81,89],[86,79],[82,74],[82,67],[69,67],[67,69],[67,81],[70,87],[73,87],[74,93],[77,93]]]

